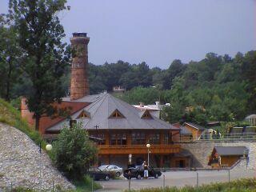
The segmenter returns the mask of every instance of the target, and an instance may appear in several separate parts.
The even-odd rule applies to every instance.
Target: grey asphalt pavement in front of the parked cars
[[[198,173],[198,185],[207,184],[210,182],[228,182],[228,170],[201,170],[201,171],[171,171],[162,173],[160,178],[136,179],[130,181],[130,188],[134,190],[165,186],[196,186]],[[165,179],[163,179],[163,174]],[[230,170],[230,181],[236,178],[253,178],[256,177],[256,171],[249,170]],[[110,181],[99,182],[103,189],[101,191],[119,192],[127,190],[129,182],[126,178],[120,178]]]

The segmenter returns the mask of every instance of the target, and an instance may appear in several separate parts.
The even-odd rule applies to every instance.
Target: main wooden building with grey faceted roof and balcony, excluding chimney
[[[70,102],[69,99],[63,100]],[[181,150],[172,140],[172,133],[178,130],[176,127],[111,94],[88,95],[73,102],[90,103],[72,114],[71,118],[82,122],[90,136],[102,139],[98,142],[100,164],[124,166],[129,154],[132,154],[133,163],[141,164],[147,160],[146,144],[150,143],[151,165],[175,165],[174,154]],[[65,124],[69,124],[68,119],[51,125],[42,134],[58,134]]]

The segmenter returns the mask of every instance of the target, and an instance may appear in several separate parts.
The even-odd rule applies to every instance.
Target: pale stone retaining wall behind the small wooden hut
[[[181,143],[182,149],[189,151],[192,154],[191,164],[194,167],[209,168],[207,165],[208,157],[211,154],[214,146],[246,146],[249,149],[249,155],[246,162],[246,169],[256,170],[256,142],[190,142]],[[243,163],[245,161],[242,161]],[[241,162],[241,165],[242,165]],[[240,164],[239,164],[240,165]],[[240,166],[241,166],[240,165]],[[245,165],[245,164],[243,164]]]

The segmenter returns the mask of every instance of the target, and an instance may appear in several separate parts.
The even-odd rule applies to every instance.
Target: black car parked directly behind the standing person
[[[150,177],[158,178],[162,175],[160,170],[156,170],[151,166],[148,168],[148,170],[149,170],[149,178]],[[125,178],[141,179],[144,177],[144,167],[143,166],[130,167],[129,169],[124,171],[123,176]]]

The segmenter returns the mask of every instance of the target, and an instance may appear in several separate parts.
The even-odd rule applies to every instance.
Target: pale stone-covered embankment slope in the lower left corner
[[[0,123],[0,191],[11,185],[51,190],[53,184],[62,189],[74,189],[52,166],[48,155],[43,150],[40,154],[39,147],[26,134]]]

